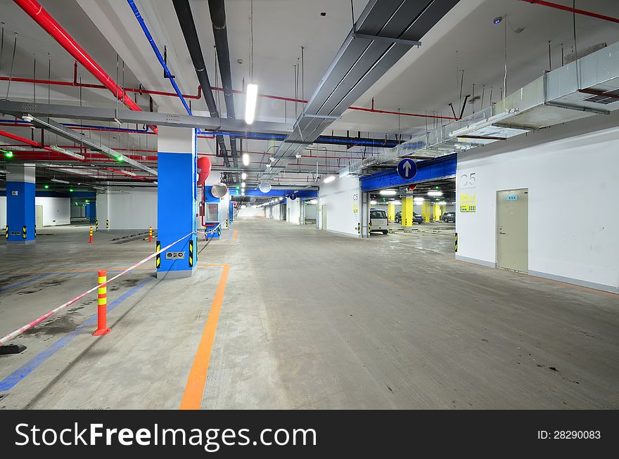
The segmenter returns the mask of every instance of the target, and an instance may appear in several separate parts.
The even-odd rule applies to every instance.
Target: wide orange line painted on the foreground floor
[[[189,377],[187,378],[185,392],[181,400],[181,410],[199,410],[200,404],[202,403],[204,385],[208,373],[208,363],[210,362],[210,353],[212,351],[213,341],[215,341],[219,311],[222,310],[224,292],[226,291],[226,283],[228,282],[228,271],[230,271],[229,264],[224,264],[222,266],[224,266],[224,269],[222,270],[222,275],[219,277],[217,292],[215,292],[215,298],[213,298],[212,305],[210,306],[208,319],[206,320],[206,325],[202,332],[202,338],[200,339],[200,344],[198,344],[198,350],[196,351],[196,356],[193,358],[193,364],[191,365]]]

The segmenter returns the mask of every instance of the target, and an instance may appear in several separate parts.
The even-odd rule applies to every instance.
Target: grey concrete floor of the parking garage
[[[0,408],[179,408],[221,264],[202,408],[619,407],[616,295],[454,261],[450,235],[233,229],[192,278],[158,281],[148,262],[108,287],[109,335],[90,335],[91,295],[16,338],[28,349],[0,356]],[[85,271],[153,249],[42,233],[0,245],[0,335],[94,285]]]

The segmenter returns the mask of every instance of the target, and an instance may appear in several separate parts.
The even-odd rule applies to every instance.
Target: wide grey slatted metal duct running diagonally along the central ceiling
[[[273,179],[404,54],[420,46],[423,35],[458,1],[370,0],[262,180]]]

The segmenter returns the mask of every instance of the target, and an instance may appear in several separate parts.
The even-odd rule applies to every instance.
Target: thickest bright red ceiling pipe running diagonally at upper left
[[[86,70],[91,72],[96,79],[106,86],[107,89],[110,90],[111,93],[114,94],[115,98],[119,101],[122,101],[127,108],[136,111],[142,111],[139,108],[132,98],[127,96],[127,93],[122,90],[120,86],[106,73],[103,68],[101,68],[98,63],[82,48],[77,44],[70,34],[66,30],[63,29],[58,22],[39,4],[36,0],[13,0],[15,4],[20,6],[32,19],[34,19],[37,24],[39,24],[43,29],[53,37],[60,46],[63,46],[65,50],[73,56],[77,62],[82,64]],[[153,129],[153,132],[157,132],[157,127],[149,126]]]

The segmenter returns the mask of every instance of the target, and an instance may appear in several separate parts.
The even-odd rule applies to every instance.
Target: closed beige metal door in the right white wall
[[[497,191],[497,266],[528,272],[529,190]]]

